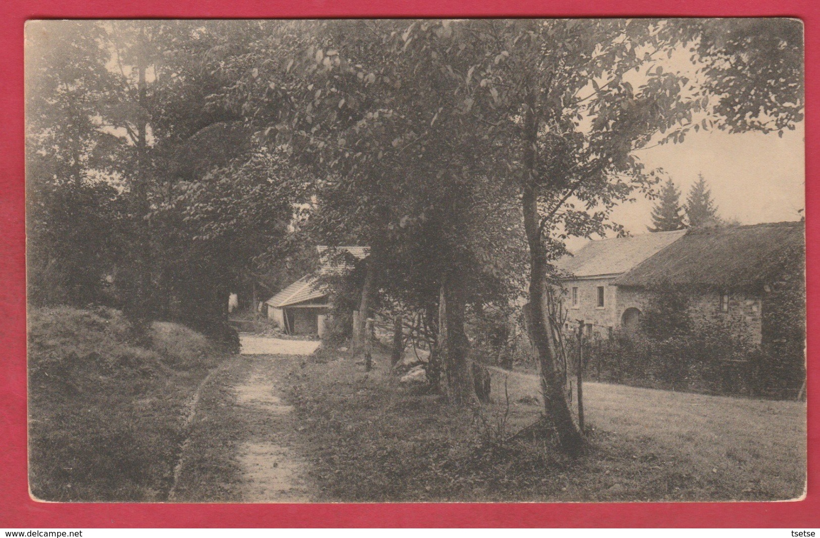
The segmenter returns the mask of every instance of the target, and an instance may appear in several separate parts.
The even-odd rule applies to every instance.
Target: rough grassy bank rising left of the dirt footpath
[[[189,403],[221,360],[203,335],[172,323],[155,322],[139,335],[109,308],[32,310],[32,495],[165,499],[187,435]]]

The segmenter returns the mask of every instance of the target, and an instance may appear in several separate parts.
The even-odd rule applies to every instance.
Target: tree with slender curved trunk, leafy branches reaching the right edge
[[[485,61],[468,73],[479,75],[472,79],[479,82],[471,103],[489,105],[483,107],[485,132],[499,142],[505,162],[520,163],[531,253],[531,340],[547,415],[568,451],[581,446],[581,435],[563,396],[553,326],[544,312],[553,226],[560,222],[565,231],[568,226],[571,233],[584,233],[590,230],[585,223],[602,221],[613,203],[651,183],[635,152],[650,142],[680,143],[688,130],[703,128],[695,118],[710,112],[710,94],[719,99],[714,112],[722,128],[774,130],[800,121],[802,39],[799,22],[797,32],[790,22],[772,39],[741,38],[750,28],[740,23],[733,39],[743,46],[734,49],[720,41],[724,21],[470,22],[485,43]],[[681,48],[706,66],[705,87],[657,62]],[[738,85],[737,69],[752,71],[757,83]],[[632,70],[642,76],[629,80]],[[764,98],[758,98],[760,87]],[[754,112],[740,105],[747,97],[754,99]],[[764,124],[764,118],[774,123]],[[585,211],[576,212],[571,198]]]

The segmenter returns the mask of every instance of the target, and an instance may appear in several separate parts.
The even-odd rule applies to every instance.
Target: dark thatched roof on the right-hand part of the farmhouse
[[[702,285],[739,288],[781,278],[784,262],[805,253],[803,222],[771,222],[690,230],[614,285]]]

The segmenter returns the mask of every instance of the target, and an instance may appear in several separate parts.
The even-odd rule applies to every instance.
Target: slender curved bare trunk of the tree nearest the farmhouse
[[[530,249],[530,308],[527,330],[530,333],[533,351],[538,359],[541,374],[541,390],[544,393],[544,413],[552,422],[558,435],[561,449],[567,454],[578,454],[584,445],[575,419],[572,417],[570,402],[563,383],[560,361],[554,347],[553,326],[545,308],[547,294],[547,252],[541,237],[540,214],[538,212],[538,185],[535,181],[535,151],[538,122],[535,121],[535,91],[527,98],[524,114],[524,165],[526,176],[523,181],[522,211],[524,229]]]

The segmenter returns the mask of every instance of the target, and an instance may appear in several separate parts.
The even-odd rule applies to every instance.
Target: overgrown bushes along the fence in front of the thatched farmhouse
[[[689,317],[688,308],[685,295],[672,291],[649,306],[637,331],[585,340],[588,376],[708,394],[795,396],[802,362],[784,367],[771,344],[754,344],[748,331],[738,330],[737,321],[698,322]],[[576,356],[576,341],[570,353]],[[780,366],[773,367],[778,361]]]

